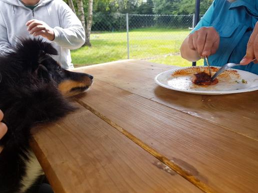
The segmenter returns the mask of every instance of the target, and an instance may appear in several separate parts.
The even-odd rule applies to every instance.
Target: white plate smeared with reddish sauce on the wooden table
[[[212,74],[219,67],[212,66]],[[232,94],[258,90],[258,75],[237,69],[226,70],[217,77],[218,83],[209,86],[199,86],[191,82],[191,77],[196,72],[207,72],[206,66],[191,66],[175,68],[158,74],[155,82],[165,88],[193,94]],[[178,72],[181,72],[178,73]],[[183,72],[183,73],[182,73]],[[178,75],[179,74],[179,75]],[[245,80],[242,83],[241,80]]]

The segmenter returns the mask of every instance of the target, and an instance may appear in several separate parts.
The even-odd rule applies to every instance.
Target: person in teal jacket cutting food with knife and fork
[[[258,74],[258,0],[214,0],[184,39],[181,56],[197,61],[208,56],[212,66],[239,63],[235,68]],[[204,61],[204,65],[206,65]]]

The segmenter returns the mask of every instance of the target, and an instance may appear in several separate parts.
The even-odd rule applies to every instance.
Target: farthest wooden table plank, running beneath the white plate
[[[175,66],[139,60],[107,65],[76,70],[86,71],[94,75],[95,79],[258,140],[258,91],[213,96],[187,94],[162,88],[154,82],[158,73]]]

